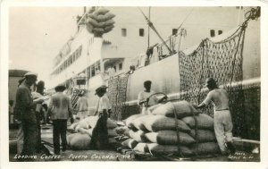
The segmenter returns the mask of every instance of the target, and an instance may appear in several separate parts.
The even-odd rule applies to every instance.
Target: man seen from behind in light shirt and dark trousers
[[[51,97],[48,106],[48,114],[53,121],[53,144],[54,154],[60,154],[60,136],[62,139],[63,151],[67,147],[66,131],[67,120],[70,117],[73,123],[71,99],[63,94],[66,88],[63,85],[55,87],[56,93]]]

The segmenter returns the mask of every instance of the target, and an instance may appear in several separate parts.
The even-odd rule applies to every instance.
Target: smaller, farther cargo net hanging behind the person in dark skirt
[[[121,113],[126,111],[129,74],[115,76],[108,81],[109,99],[112,106],[111,119],[121,121]]]

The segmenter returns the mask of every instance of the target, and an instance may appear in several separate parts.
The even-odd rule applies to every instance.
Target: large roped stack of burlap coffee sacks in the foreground
[[[187,101],[167,102],[151,111],[152,114],[135,114],[126,120],[130,139],[121,143],[124,147],[155,156],[219,153],[214,119],[199,114]]]

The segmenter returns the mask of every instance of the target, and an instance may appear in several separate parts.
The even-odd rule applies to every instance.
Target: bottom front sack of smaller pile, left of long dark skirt
[[[67,144],[71,149],[88,149],[90,140],[88,134],[73,133],[67,136]]]

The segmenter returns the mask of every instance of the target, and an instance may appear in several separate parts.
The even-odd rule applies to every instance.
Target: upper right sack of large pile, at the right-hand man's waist
[[[214,119],[206,114],[198,114],[197,118],[197,129],[214,129]],[[184,117],[181,119],[187,123],[190,128],[195,128],[195,119],[193,116]]]

